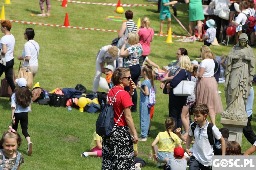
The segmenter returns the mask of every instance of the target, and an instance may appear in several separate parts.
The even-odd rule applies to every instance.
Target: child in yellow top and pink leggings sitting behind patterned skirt
[[[91,142],[91,152],[83,152],[81,157],[87,156],[98,156],[101,157],[101,146],[102,146],[102,137],[94,132],[93,141]]]

